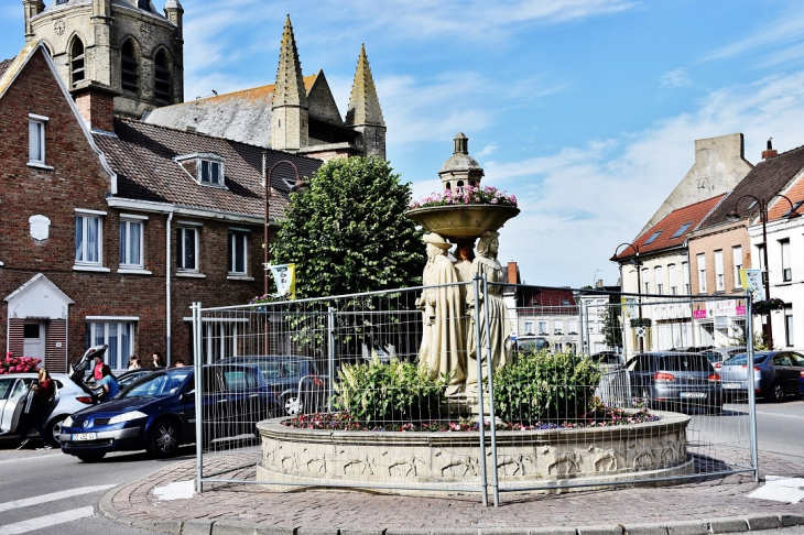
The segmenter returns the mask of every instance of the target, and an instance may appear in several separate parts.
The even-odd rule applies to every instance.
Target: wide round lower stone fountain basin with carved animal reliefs
[[[501,487],[565,492],[606,488],[617,481],[691,473],[686,428],[689,416],[653,411],[658,422],[497,433]],[[344,485],[396,494],[477,490],[481,482],[478,433],[374,433],[297,429],[287,419],[260,422],[262,459],[257,480],[273,491]],[[486,466],[492,461],[487,434]],[[561,488],[562,484],[587,487]],[[663,484],[666,484],[664,482]],[[382,488],[384,487],[384,488]],[[389,488],[393,487],[393,489]]]

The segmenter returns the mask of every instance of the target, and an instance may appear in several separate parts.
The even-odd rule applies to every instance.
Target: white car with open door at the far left
[[[26,428],[33,427],[25,405],[31,395],[31,385],[36,381],[36,373],[11,373],[0,375],[0,438],[24,439],[39,437],[39,432]],[[58,435],[62,422],[73,413],[95,403],[90,394],[82,390],[69,380],[66,373],[51,373],[56,385],[56,394],[51,402],[44,429],[46,436],[41,437],[51,446],[58,446]]]

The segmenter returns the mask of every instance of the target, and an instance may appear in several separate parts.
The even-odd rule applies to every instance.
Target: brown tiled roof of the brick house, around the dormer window
[[[320,160],[129,119],[116,119],[115,133],[117,137],[95,133],[94,138],[117,173],[117,197],[121,198],[264,217],[263,151],[268,152],[267,171],[275,162],[290,160],[298,167],[300,176],[308,177],[323,164]],[[199,185],[173,160],[204,152],[226,159],[224,173],[228,189]],[[295,182],[293,168],[279,165],[271,179],[274,189],[271,218],[282,217],[290,200],[285,179]]]

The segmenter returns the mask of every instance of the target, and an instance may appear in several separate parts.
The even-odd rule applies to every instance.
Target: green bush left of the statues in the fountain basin
[[[338,376],[337,407],[366,423],[433,419],[444,402],[446,378],[412,362],[344,364]]]

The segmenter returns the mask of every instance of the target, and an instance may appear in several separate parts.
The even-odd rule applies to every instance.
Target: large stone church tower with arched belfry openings
[[[166,0],[23,0],[25,41],[41,40],[74,96],[113,96],[117,114],[184,100],[184,9]]]

